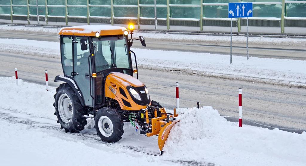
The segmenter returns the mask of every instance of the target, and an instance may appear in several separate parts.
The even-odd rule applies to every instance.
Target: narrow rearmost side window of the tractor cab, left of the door
[[[71,76],[72,65],[72,37],[63,37],[61,41],[61,56],[64,74]]]

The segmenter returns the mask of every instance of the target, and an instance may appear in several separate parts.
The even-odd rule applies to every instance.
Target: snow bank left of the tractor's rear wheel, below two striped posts
[[[55,88],[24,82],[15,77],[0,77],[0,108],[56,120],[53,107]]]

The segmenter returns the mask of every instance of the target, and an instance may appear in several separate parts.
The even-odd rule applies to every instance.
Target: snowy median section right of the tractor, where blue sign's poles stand
[[[306,85],[306,61],[233,56],[209,53],[134,49],[142,67],[191,70],[227,78],[266,79],[292,85]],[[145,53],[144,53],[145,52]]]

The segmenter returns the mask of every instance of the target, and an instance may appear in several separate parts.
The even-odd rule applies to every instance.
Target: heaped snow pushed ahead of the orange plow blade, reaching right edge
[[[184,112],[165,144],[164,157],[203,160],[220,165],[304,165],[306,132],[269,130],[226,121],[217,110],[179,109]]]

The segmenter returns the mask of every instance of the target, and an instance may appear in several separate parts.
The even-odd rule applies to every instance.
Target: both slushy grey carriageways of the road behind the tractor
[[[59,42],[54,34],[27,34],[11,31],[2,31],[0,38]],[[147,49],[218,54],[229,52],[229,46],[225,43],[179,43],[148,39],[146,43]],[[234,46],[234,54],[239,55],[240,50],[241,55],[244,55],[242,54],[245,51],[244,46],[235,44]],[[137,42],[133,47],[144,48]],[[250,45],[250,55],[306,60],[305,50],[286,46]],[[56,75],[62,74],[59,59],[3,52],[0,52],[0,58],[0,76],[13,76],[12,70],[18,67],[19,78],[45,84],[44,70],[48,70],[49,85],[58,86],[59,84],[52,82]],[[11,72],[5,73],[7,71]],[[200,106],[213,106],[220,114],[230,116],[226,118],[231,121],[238,120],[237,93],[238,88],[243,88],[244,124],[258,126],[259,124],[256,123],[260,123],[259,126],[287,128],[286,131],[299,133],[306,130],[306,89],[304,88],[204,77],[182,71],[158,71],[143,68],[139,68],[139,79],[149,87],[151,98],[160,101],[169,109],[175,106],[174,87],[163,87],[175,85],[175,82],[178,81],[181,87],[181,107],[195,107],[196,103],[200,102]],[[291,130],[291,128],[302,130]]]

